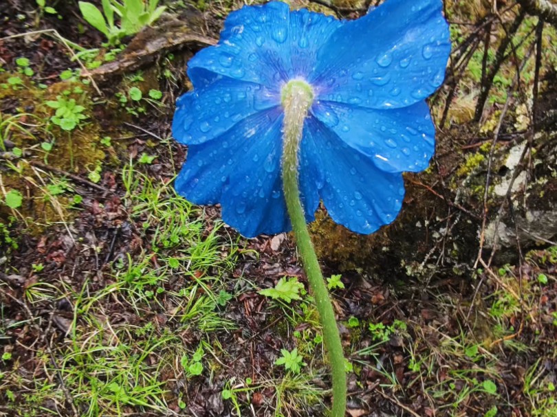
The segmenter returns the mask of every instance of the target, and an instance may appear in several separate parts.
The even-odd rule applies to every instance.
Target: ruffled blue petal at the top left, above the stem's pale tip
[[[195,87],[220,75],[280,91],[292,78],[309,77],[318,49],[340,25],[279,1],[243,7],[228,15],[219,43],[190,60],[188,76]]]

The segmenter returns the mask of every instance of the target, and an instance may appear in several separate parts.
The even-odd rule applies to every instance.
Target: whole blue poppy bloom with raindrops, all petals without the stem
[[[244,236],[290,230],[281,182],[281,89],[305,80],[315,98],[299,150],[308,222],[323,200],[334,221],[369,234],[391,223],[402,172],[424,170],[435,127],[424,101],[450,52],[441,0],[386,0],[338,21],[271,1],[226,19],[217,45],[188,64],[173,135],[188,145],[175,188],[222,206]]]

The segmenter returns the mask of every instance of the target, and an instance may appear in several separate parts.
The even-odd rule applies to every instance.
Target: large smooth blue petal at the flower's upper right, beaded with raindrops
[[[441,85],[450,53],[441,0],[386,0],[342,25],[320,49],[321,100],[371,109],[424,100]]]

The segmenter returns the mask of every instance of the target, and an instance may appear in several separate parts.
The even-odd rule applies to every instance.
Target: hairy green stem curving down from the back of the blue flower
[[[346,409],[345,357],[336,324],[329,291],[325,286],[323,273],[309,237],[305,215],[300,200],[298,185],[298,148],[302,140],[304,120],[312,105],[312,87],[304,81],[290,81],[282,92],[284,108],[282,178],[286,207],[292,229],[296,235],[296,245],[302,258],[309,286],[315,298],[319,322],[323,327],[323,341],[329,357],[333,379],[333,417],[344,417]]]

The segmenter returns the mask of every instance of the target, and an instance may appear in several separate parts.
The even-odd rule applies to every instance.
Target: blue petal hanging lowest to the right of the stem
[[[307,120],[303,141],[319,146],[314,164],[325,178],[320,196],[336,223],[370,234],[395,219],[404,196],[402,174],[379,170],[314,117]]]

